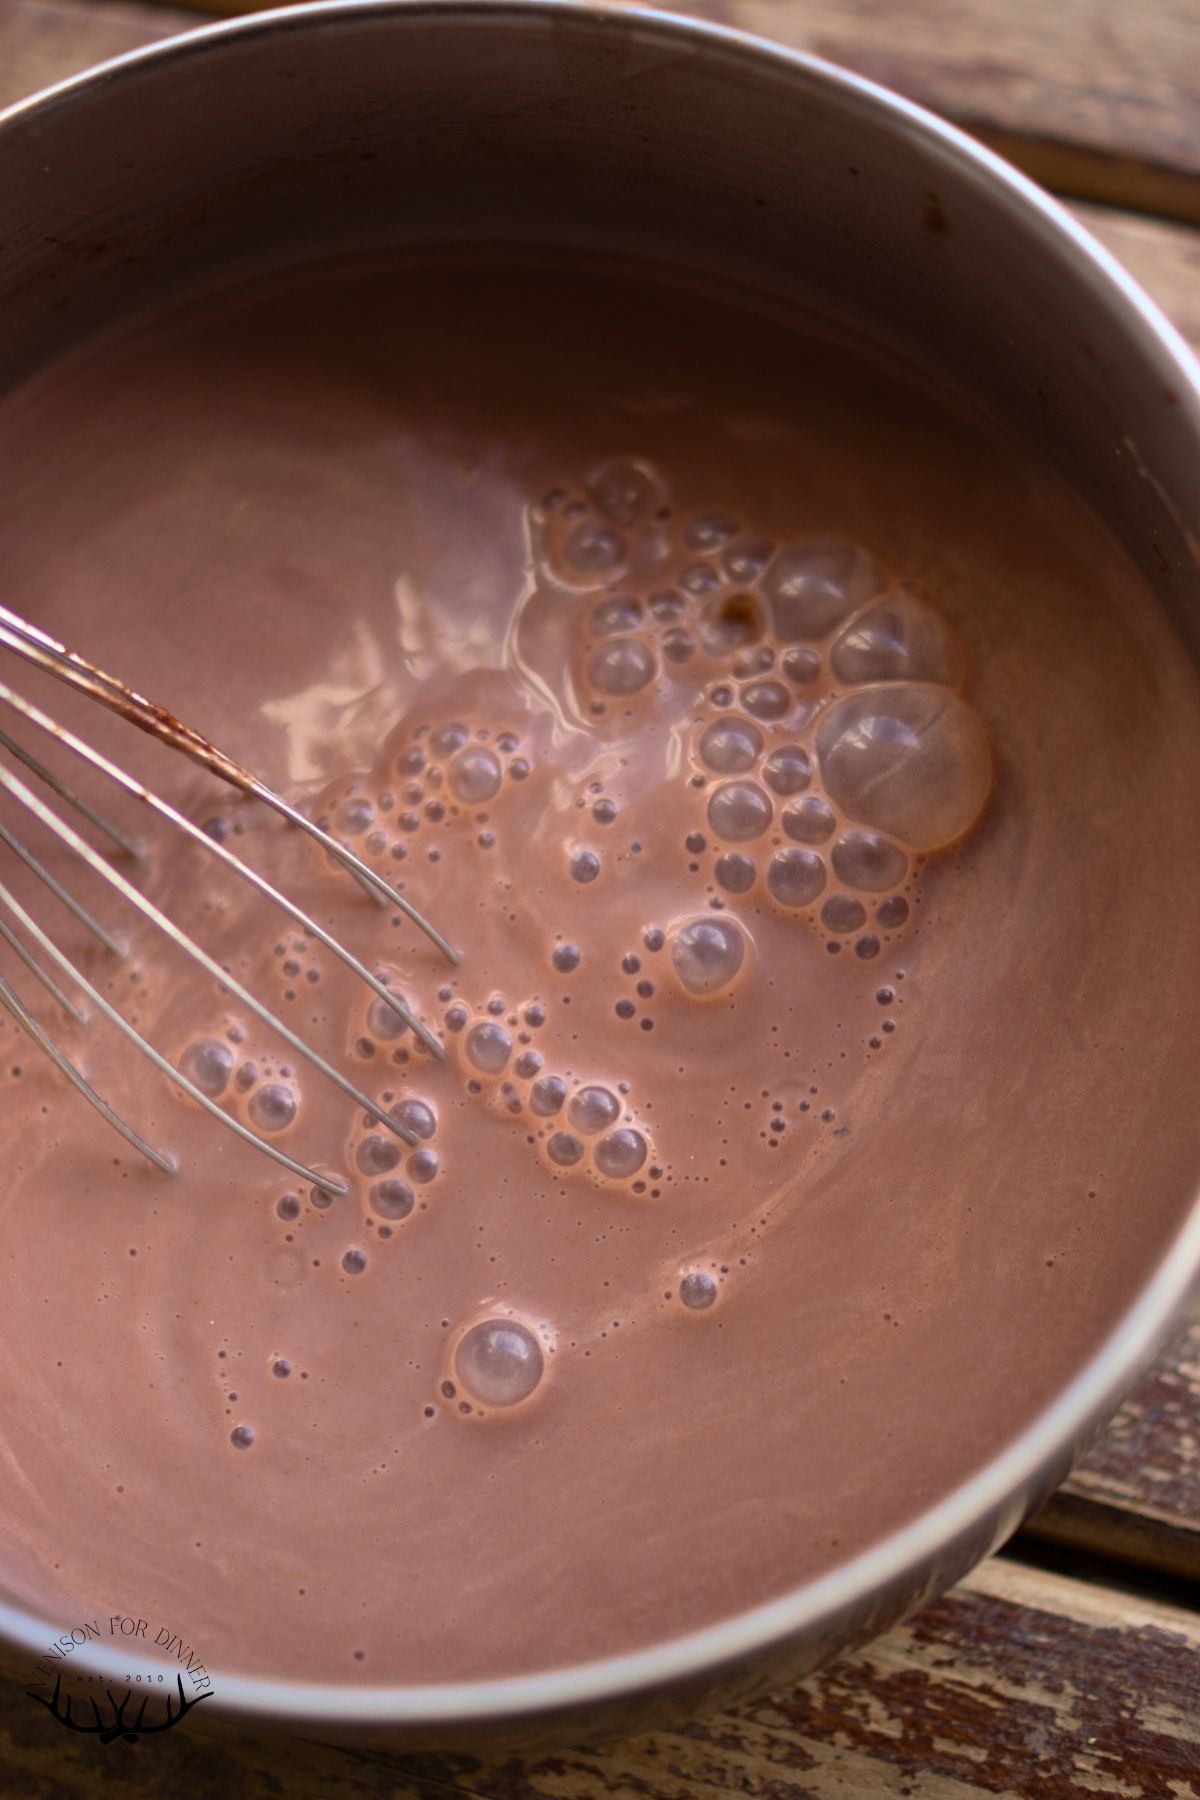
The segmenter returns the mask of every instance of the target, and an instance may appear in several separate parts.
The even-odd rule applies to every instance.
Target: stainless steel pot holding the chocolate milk
[[[1036,437],[1200,661],[1200,367],[1052,200],[855,76],[567,0],[367,0],[218,25],[0,117],[0,391],[130,306],[313,247],[500,238],[721,268],[936,362]],[[533,1744],[811,1669],[963,1575],[1061,1480],[1200,1269],[1200,1204],[1054,1404],[928,1514],[768,1606],[637,1654],[448,1687],[212,1670],[320,1735]],[[0,1604],[13,1669],[54,1636]],[[90,1667],[121,1674],[95,1652]]]

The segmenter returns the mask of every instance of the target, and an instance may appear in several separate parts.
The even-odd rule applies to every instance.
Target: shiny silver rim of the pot
[[[588,0],[311,0],[306,5],[221,20],[128,50],[0,108],[0,135],[34,122],[38,113],[50,115],[77,94],[119,85],[142,70],[153,72],[155,67],[205,56],[212,49],[236,45],[241,38],[284,38],[291,32],[338,29],[362,18],[455,18],[489,25],[524,20],[547,25],[556,16],[592,25],[621,23],[658,43],[702,47],[734,61],[775,63],[781,72],[795,77],[797,88],[833,88],[851,110],[883,115],[894,130],[948,153],[1022,214],[1034,241],[1074,252],[1097,301],[1123,313],[1132,333],[1141,333],[1164,385],[1178,394],[1180,407],[1189,412],[1200,445],[1200,360],[1139,283],[1060,202],[957,126],[880,83],[729,25],[644,5],[603,11]],[[772,1645],[783,1649],[802,1633],[819,1631],[840,1615],[862,1609],[873,1595],[898,1591],[907,1579],[930,1570],[946,1546],[970,1543],[972,1534],[975,1541],[986,1534],[990,1548],[999,1548],[1024,1517],[1038,1478],[1061,1465],[1072,1447],[1115,1406],[1121,1391],[1162,1345],[1198,1280],[1200,1186],[1178,1235],[1133,1305],[1063,1391],[1007,1447],[909,1525],[774,1600],[640,1651],[491,1681],[365,1685],[210,1670],[219,1710],[306,1726],[502,1724],[651,1692],[756,1658]],[[0,1638],[14,1649],[38,1656],[58,1629],[61,1622],[56,1627],[32,1611],[0,1602]],[[124,1660],[115,1651],[92,1645],[86,1667],[119,1676]]]

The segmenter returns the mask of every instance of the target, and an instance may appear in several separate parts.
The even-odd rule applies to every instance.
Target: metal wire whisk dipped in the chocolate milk
[[[230,787],[254,799],[263,801],[281,817],[288,819],[291,824],[299,826],[308,837],[322,846],[336,862],[342,864],[365,889],[365,893],[381,907],[398,907],[407,918],[417,925],[426,938],[430,938],[443,956],[450,963],[457,963],[459,952],[453,950],[441,932],[423,918],[417,909],[405,900],[389,882],[385,882],[374,869],[367,868],[351,850],[338,844],[327,832],[306,819],[302,812],[290,806],[286,799],[259,781],[257,776],[243,769],[223,751],[218,751],[214,743],[209,743],[198,731],[191,725],[184,725],[178,718],[167,713],[164,707],[155,706],[142,695],[133,693],[124,682],[117,680],[113,675],[106,675],[103,670],[94,668],[85,662],[83,657],[67,650],[63,644],[56,643],[45,632],[29,625],[27,619],[18,617],[18,614],[9,612],[0,607],[0,648],[14,652],[25,662],[34,668],[45,670],[45,673],[54,675],[58,680],[67,682],[68,688],[76,688],[79,693],[88,695],[92,700],[99,700],[110,711],[117,713],[121,718],[130,720],[142,731],[167,743],[169,747],[182,751],[201,769],[210,770],[227,781]],[[144,787],[133,776],[130,776],[117,763],[110,761],[97,749],[77,738],[72,731],[61,725],[58,720],[50,718],[41,707],[32,706],[13,688],[0,682],[0,706],[4,706],[11,715],[23,720],[27,725],[34,727],[52,738],[56,743],[68,749],[81,761],[90,763],[117,787],[124,788],[151,812],[158,814],[171,826],[191,837],[194,842],[201,844],[227,871],[237,875],[241,880],[248,882],[263,896],[275,902],[288,918],[291,918],[308,936],[324,943],[347,968],[367,983],[367,986],[389,1004],[403,1022],[416,1033],[416,1037],[430,1049],[435,1057],[443,1057],[444,1049],[441,1040],[425,1026],[419,1019],[412,1015],[405,1001],[392,994],[390,988],[380,981],[371,970],[347,950],[331,932],[317,923],[302,907],[288,900],[286,895],[279,893],[263,875],[252,869],[241,857],[236,857],[223,842],[218,842],[209,832],[194,824],[182,812],[171,806],[169,801],[155,794],[151,788]],[[126,837],[115,824],[112,824],[103,812],[90,805],[76,794],[59,776],[47,769],[38,756],[34,756],[23,743],[16,743],[5,729],[0,727],[0,751],[20,763],[31,776],[34,776],[45,788],[58,796],[65,806],[74,808],[74,812],[86,819],[88,824],[103,837],[108,839],[113,851],[124,857],[139,859],[142,850],[130,837]],[[173,943],[176,943],[194,963],[205,968],[223,988],[234,994],[263,1024],[270,1026],[279,1037],[290,1044],[300,1057],[311,1062],[327,1080],[335,1082],[344,1094],[354,1100],[363,1112],[369,1112],[380,1125],[403,1138],[405,1143],[416,1143],[416,1136],[403,1127],[398,1120],[390,1116],[383,1107],[380,1107],[369,1094],[351,1082],[345,1075],[333,1067],[318,1051],[304,1042],[282,1019],[277,1017],[268,1006],[264,1006],[254,994],[250,994],[227,968],[209,956],[201,945],[198,945],[185,931],[182,931],[171,918],[166,916],[151,900],[142,895],[133,882],[130,882],[119,868],[113,866],[108,857],[101,855],[88,844],[79,832],[70,824],[54,806],[47,805],[45,797],[34,792],[27,781],[18,776],[9,763],[0,758],[0,790],[9,794],[20,806],[23,806],[32,817],[52,832],[61,844],[65,844],[74,855],[77,855],[86,866],[101,877],[110,887],[113,887],[130,905],[133,905],[149,923],[164,932]],[[79,900],[45,868],[45,864],[18,839],[13,832],[0,823],[0,844],[25,864],[32,875],[45,884],[45,887],[79,920],[92,936],[104,945],[104,949],[115,956],[124,956],[124,950],[117,938],[97,920],[92,913],[81,905]],[[0,862],[0,875],[2,875]],[[11,893],[7,884],[0,878],[0,938],[11,947],[16,958],[25,965],[25,968],[34,976],[47,994],[63,1008],[76,1022],[86,1024],[86,1015],[76,1004],[76,1001],[63,992],[54,976],[41,967],[31,945],[34,945],[49,961],[54,965],[59,976],[67,977],[68,985],[77,992],[86,995],[88,1001],[103,1013],[119,1031],[130,1039],[130,1042],[155,1064],[167,1080],[175,1082],[185,1094],[196,1100],[212,1118],[219,1120],[228,1130],[245,1138],[255,1148],[263,1150],[266,1156],[273,1157],[275,1163],[282,1163],[295,1175],[304,1181],[317,1183],[331,1192],[345,1192],[344,1183],[331,1175],[318,1174],[317,1170],[306,1168],[302,1163],[293,1161],[284,1150],[268,1143],[250,1127],[243,1125],[230,1112],[219,1107],[209,1094],[189,1080],[180,1069],[176,1069],[148,1039],[124,1019],[117,1008],[97,990],[97,986],[86,979],[86,976],[77,968],[77,965],[54,943],[50,934],[43,925],[31,916],[31,913],[18,902]],[[0,1006],[11,1013],[16,1024],[38,1044],[40,1049],[61,1069],[67,1080],[95,1107],[95,1111],[126,1139],[135,1150],[160,1168],[164,1174],[173,1174],[175,1165],[169,1157],[162,1156],[151,1145],[133,1130],[95,1089],[90,1085],[86,1076],[70,1062],[65,1051],[54,1042],[52,1035],[43,1024],[34,1017],[29,1006],[20,999],[13,985],[0,976]]]

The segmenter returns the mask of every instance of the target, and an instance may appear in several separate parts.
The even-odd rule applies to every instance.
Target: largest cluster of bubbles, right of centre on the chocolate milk
[[[621,553],[567,569],[585,524]],[[720,506],[676,518],[639,459],[556,490],[534,544],[560,585],[588,578],[574,605],[592,713],[655,691],[691,725],[703,830],[684,835],[711,857],[689,871],[712,905],[765,895],[831,949],[862,918],[856,954],[878,954],[912,916],[914,859],[963,837],[991,785],[963,646],[928,596],[844,538],[777,542]]]

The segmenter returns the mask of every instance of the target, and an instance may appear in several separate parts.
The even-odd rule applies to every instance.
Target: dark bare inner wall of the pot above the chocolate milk
[[[678,22],[275,16],[0,128],[0,391],[227,265],[439,238],[720,268],[862,324],[1034,436],[1200,652],[1200,401],[1011,194],[853,86]]]

